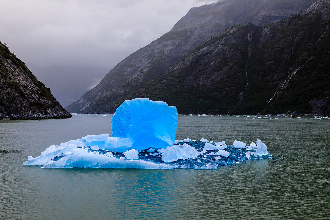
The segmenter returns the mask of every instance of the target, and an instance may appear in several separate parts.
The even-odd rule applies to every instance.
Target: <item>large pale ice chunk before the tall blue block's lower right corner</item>
[[[196,151],[196,149],[190,145],[184,143],[167,147],[165,152],[162,154],[162,161],[173,162],[179,159],[195,159],[198,155],[200,155],[200,152]]]

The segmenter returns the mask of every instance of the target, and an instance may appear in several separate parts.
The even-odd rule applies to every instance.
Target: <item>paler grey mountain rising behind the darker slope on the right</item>
[[[264,26],[306,10],[314,0],[220,0],[192,8],[171,31],[118,63],[92,90],[66,109],[75,113],[114,113],[118,100],[161,77],[182,56],[211,36],[237,24]]]

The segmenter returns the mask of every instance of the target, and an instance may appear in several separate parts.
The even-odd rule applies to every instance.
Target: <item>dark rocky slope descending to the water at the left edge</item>
[[[0,42],[0,119],[71,118],[25,64]]]

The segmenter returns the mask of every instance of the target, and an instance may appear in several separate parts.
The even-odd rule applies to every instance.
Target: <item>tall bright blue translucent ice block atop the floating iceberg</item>
[[[149,98],[124,101],[111,120],[113,136],[131,138],[136,150],[172,146],[177,127],[177,108]]]

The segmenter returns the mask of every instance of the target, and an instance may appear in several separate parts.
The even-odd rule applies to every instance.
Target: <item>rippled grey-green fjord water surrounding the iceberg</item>
[[[330,218],[328,117],[180,115],[177,139],[259,138],[274,158],[215,170],[22,166],[101,133],[111,134],[111,115],[0,122],[0,219]]]

